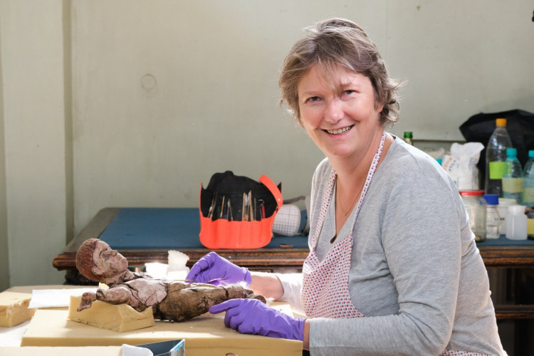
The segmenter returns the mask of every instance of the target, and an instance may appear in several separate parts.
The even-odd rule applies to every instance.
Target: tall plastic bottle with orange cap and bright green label
[[[506,119],[496,120],[496,129],[486,145],[486,194],[503,197],[503,169],[506,162],[506,149],[512,147],[512,140],[506,131]]]

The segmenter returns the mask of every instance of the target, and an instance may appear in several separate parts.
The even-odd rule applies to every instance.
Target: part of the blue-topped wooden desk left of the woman
[[[68,279],[76,278],[76,251],[86,239],[98,238],[125,256],[131,267],[167,263],[169,250],[187,254],[191,267],[211,251],[200,243],[199,231],[199,209],[105,208],[54,258],[53,266],[68,272],[69,283],[79,282]],[[215,251],[253,271],[296,272],[308,256],[308,237],[274,236],[263,248]]]

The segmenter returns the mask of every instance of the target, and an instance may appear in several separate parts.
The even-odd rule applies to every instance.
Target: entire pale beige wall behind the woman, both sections
[[[200,183],[226,169],[308,194],[323,156],[278,107],[276,81],[301,29],[330,16],[360,23],[408,80],[397,135],[463,140],[477,112],[534,112],[532,11],[527,0],[0,0],[0,269],[7,246],[9,284],[61,282],[53,256],[99,209],[197,206]]]

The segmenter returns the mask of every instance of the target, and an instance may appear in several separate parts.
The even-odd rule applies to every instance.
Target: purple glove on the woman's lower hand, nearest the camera
[[[256,334],[303,341],[305,318],[289,315],[257,299],[231,299],[209,308],[209,313],[226,311],[224,325],[241,334]]]

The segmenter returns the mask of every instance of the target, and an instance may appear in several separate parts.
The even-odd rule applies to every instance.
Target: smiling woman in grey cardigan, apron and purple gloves
[[[247,301],[210,311],[226,311],[225,324],[241,333],[302,340],[312,355],[506,355],[456,185],[386,132],[398,120],[400,84],[362,28],[345,19],[306,28],[279,85],[326,156],[312,180],[303,273],[250,273],[209,253],[187,278],[235,276],[305,319],[274,323]]]

